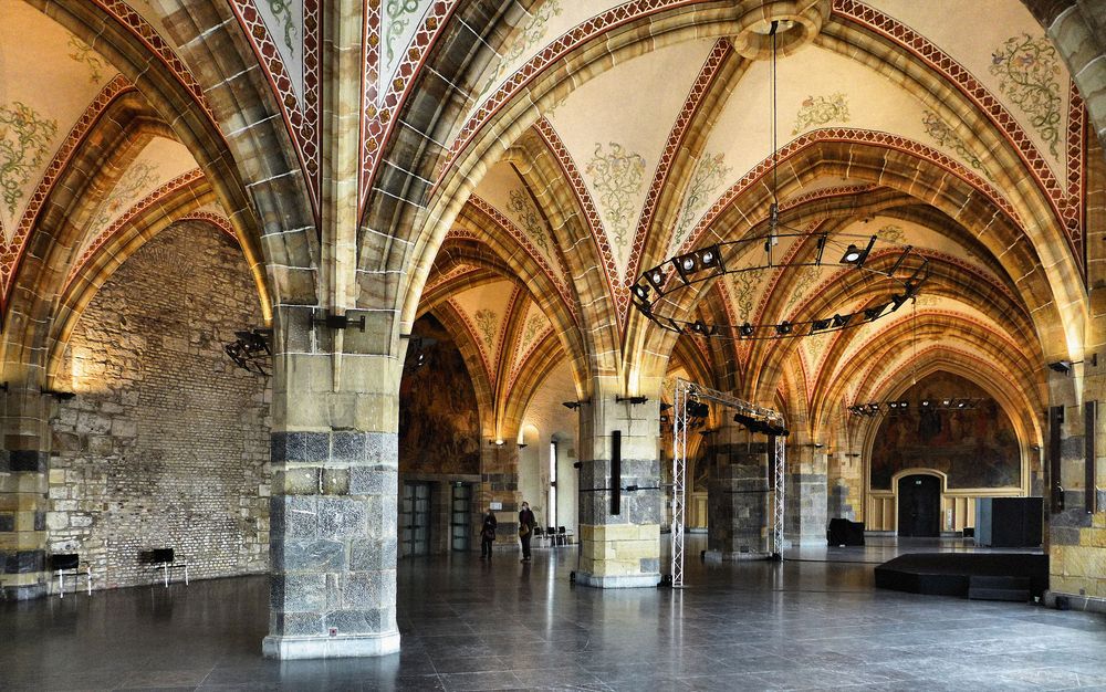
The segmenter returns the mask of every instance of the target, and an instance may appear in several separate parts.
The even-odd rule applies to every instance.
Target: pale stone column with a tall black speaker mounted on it
[[[658,382],[659,385],[659,382]],[[599,588],[660,581],[660,461],[657,397],[645,403],[593,395],[580,409],[580,541],[576,583]],[[612,514],[613,432],[620,433],[619,511]],[[637,490],[627,490],[636,487]]]

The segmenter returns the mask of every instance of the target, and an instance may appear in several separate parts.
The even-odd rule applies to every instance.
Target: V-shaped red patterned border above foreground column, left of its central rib
[[[303,0],[303,99],[296,96],[292,77],[288,74],[276,43],[261,13],[251,0],[228,0],[230,9],[250,40],[250,46],[264,70],[265,77],[276,101],[281,115],[292,137],[300,165],[309,181],[307,192],[319,219],[320,188],[320,134],[322,132],[322,108],[320,107],[320,54],[319,33],[321,15],[320,0]]]

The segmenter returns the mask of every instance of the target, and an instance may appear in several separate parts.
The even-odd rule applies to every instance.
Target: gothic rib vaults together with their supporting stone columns
[[[659,480],[658,403],[679,375],[791,421],[800,543],[818,539],[835,493],[894,528],[875,518],[894,497],[869,482],[879,420],[851,403],[936,374],[970,379],[1016,434],[1016,482],[995,492],[1065,494],[1053,590],[1106,599],[1106,503],[1081,513],[1095,493],[1083,405],[1106,385],[1091,365],[1106,340],[1099,0],[0,0],[0,506],[18,507],[0,551],[49,547],[39,392],[87,386],[64,367],[83,310],[157,233],[208,224],[239,243],[275,334],[273,656],[399,646],[399,388],[425,316],[472,380],[480,502],[522,500],[538,458],[519,443],[551,429],[573,431],[581,486],[608,468],[615,430],[624,473]],[[932,276],[915,304],[854,329],[675,336],[630,308],[628,289],[674,254],[765,232],[772,19],[793,24],[779,61],[782,219],[912,245]],[[764,270],[681,308],[773,324],[874,300],[847,272]],[[323,327],[323,313],[366,327]],[[1058,360],[1081,365],[1047,368]],[[566,413],[550,391],[585,405]],[[634,395],[649,402],[616,402]],[[1065,444],[1050,468],[1057,406]],[[604,501],[578,499],[583,580],[655,583],[661,495],[616,516]],[[317,541],[340,558],[301,559]],[[28,564],[0,577],[6,595],[44,591],[43,564]],[[343,585],[337,604],[316,598],[327,579]]]

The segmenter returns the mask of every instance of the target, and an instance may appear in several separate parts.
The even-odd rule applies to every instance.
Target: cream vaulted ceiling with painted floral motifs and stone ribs
[[[912,245],[932,276],[914,304],[878,322],[755,343],[677,337],[630,304],[629,286],[645,269],[764,233],[776,187],[764,13],[733,9],[759,3],[654,4],[519,3],[494,32],[495,53],[466,65],[476,88],[459,106],[438,104],[440,127],[424,137],[432,144],[419,145],[438,153],[434,179],[418,189],[425,213],[409,224],[410,247],[427,248],[432,262],[413,262],[401,285],[416,313],[467,333],[459,343],[479,364],[473,378],[486,382],[495,418],[522,424],[524,411],[509,400],[529,401],[563,367],[582,397],[597,376],[616,374],[633,389],[643,373],[697,373],[807,416],[813,429],[848,402],[893,396],[933,368],[971,374],[1010,406],[1040,410],[1043,364],[1082,346],[1088,160],[1102,156],[1071,75],[1022,2],[795,3],[775,78],[783,223]],[[62,307],[50,338],[63,342],[104,273],[181,219],[243,241],[267,310],[267,291],[321,281],[286,276],[307,271],[291,261],[260,269],[259,227],[302,223],[242,213],[247,186],[232,178],[260,174],[252,159],[230,162],[237,120],[215,117],[223,109],[208,102],[227,96],[215,84],[205,93],[194,76],[211,66],[187,64],[167,40],[181,33],[186,13],[169,2],[94,6],[140,38],[150,64],[190,94],[189,112],[211,132],[184,123],[181,104],[167,101],[160,83],[128,81],[134,71],[116,65],[135,57],[106,34],[82,40],[71,31],[76,11],[65,19],[53,3],[0,0],[8,322],[33,315],[12,313],[21,286],[51,296]],[[364,77],[365,185],[356,206],[363,229],[376,231],[377,188],[366,181],[404,146],[385,146],[392,124],[415,127],[406,90],[425,72],[441,23],[468,6],[371,7],[383,40]],[[268,119],[286,134],[273,147],[299,166],[305,213],[317,224],[320,6],[231,0],[218,11],[233,18],[262,69],[280,115]],[[390,195],[388,185],[385,177],[379,189]],[[300,242],[286,238],[289,247]],[[372,241],[358,242],[358,269],[368,274]],[[778,250],[807,251],[803,242]],[[317,260],[320,251],[311,253]],[[712,282],[684,310],[708,322],[771,324],[872,300],[841,273],[768,269]]]

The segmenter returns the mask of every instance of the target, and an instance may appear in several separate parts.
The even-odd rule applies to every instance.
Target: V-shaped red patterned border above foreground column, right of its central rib
[[[426,15],[422,24],[415,32],[404,52],[403,60],[396,66],[389,88],[379,93],[380,80],[380,2],[369,2],[365,9],[362,45],[365,46],[362,84],[362,126],[361,126],[361,191],[357,203],[357,218],[363,216],[373,179],[380,162],[380,153],[395,127],[396,116],[407,101],[415,76],[426,62],[430,49],[444,32],[460,0],[437,0]]]

